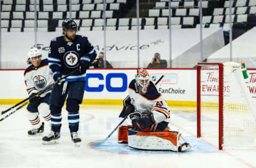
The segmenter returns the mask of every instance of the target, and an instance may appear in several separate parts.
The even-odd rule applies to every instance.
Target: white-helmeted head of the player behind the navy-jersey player
[[[39,66],[41,63],[42,54],[39,49],[33,47],[28,52],[27,63],[32,64],[35,67]]]

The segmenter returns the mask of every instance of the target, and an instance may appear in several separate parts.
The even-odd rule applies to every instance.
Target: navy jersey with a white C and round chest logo
[[[65,41],[64,36],[52,39],[48,63],[53,75],[61,73],[62,77],[79,68],[80,61],[92,61],[97,56],[87,37],[76,35],[73,41]],[[77,71],[66,78],[66,81],[85,81],[86,74]]]

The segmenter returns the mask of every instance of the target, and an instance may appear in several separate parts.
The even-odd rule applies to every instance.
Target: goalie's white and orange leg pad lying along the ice
[[[180,134],[177,132],[142,132],[128,130],[128,146],[146,150],[172,150],[178,152]]]

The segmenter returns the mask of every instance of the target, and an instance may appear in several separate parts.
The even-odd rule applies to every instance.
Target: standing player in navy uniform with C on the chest
[[[62,22],[63,36],[52,39],[49,49],[49,67],[54,81],[79,69],[59,85],[54,85],[50,97],[52,130],[43,137],[43,144],[58,144],[61,128],[61,108],[67,98],[66,110],[71,140],[76,145],[81,142],[77,131],[79,127],[79,104],[84,96],[86,70],[97,56],[87,37],[76,35],[77,24],[74,20]]]

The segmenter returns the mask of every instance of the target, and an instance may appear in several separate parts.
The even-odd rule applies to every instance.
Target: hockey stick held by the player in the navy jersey
[[[19,102],[19,103],[15,104],[14,106],[12,106],[12,107],[8,108],[7,110],[2,111],[2,113],[1,113],[1,114],[3,115],[4,113],[6,113],[6,112],[8,112],[8,111],[12,110],[13,108],[15,108],[15,107],[17,107],[18,105],[20,105],[20,104],[22,104],[22,103],[26,102],[27,100],[30,100],[31,98],[34,98],[34,97],[39,96],[39,95],[42,95],[42,94],[43,94],[43,93],[45,93],[46,91],[51,90],[51,89],[52,89],[52,87],[53,87],[53,85],[56,85],[59,81],[61,81],[61,80],[63,80],[63,79],[66,79],[67,77],[69,77],[71,74],[75,73],[75,72],[76,72],[76,71],[78,71],[78,70],[79,70],[79,69],[75,69],[74,71],[72,71],[72,72],[68,73],[65,77],[60,78],[59,80],[57,80],[57,81],[53,82],[51,85],[46,86],[43,90],[38,91],[38,93],[37,93],[36,95],[33,95],[33,96],[32,96],[32,95],[30,95],[28,98],[26,98],[26,99],[22,100],[21,102]]]

